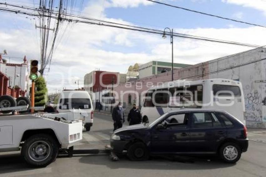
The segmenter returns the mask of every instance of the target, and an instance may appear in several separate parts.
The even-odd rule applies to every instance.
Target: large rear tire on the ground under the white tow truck
[[[36,134],[24,142],[21,155],[34,167],[46,167],[52,163],[58,154],[58,143],[47,134]]]

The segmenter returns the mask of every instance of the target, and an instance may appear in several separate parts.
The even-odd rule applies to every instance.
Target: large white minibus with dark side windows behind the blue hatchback
[[[245,124],[242,84],[230,79],[176,80],[147,90],[141,113],[150,122],[171,110],[216,109]]]

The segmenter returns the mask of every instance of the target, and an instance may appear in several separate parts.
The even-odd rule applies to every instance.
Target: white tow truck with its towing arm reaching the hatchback
[[[104,149],[74,149],[82,140],[82,120],[66,120],[68,113],[19,114],[27,106],[0,108],[0,112],[13,110],[12,114],[0,115],[0,152],[21,151],[23,159],[34,167],[45,167],[52,163],[58,154],[110,154],[112,160],[119,160]],[[34,107],[43,110],[43,107]],[[73,113],[73,116],[75,113]]]

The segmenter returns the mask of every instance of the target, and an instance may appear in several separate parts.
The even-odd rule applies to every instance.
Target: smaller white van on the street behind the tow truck
[[[62,91],[55,97],[56,112],[69,112],[67,120],[82,120],[86,131],[93,123],[93,105],[90,94],[86,91]]]

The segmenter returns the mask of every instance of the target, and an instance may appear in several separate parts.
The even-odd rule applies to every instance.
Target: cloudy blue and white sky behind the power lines
[[[38,0],[0,0],[37,6]],[[161,0],[161,2],[266,25],[266,0]],[[79,13],[75,11],[74,13]],[[176,33],[266,45],[266,28],[213,18],[146,0],[84,0],[82,16]],[[0,12],[0,53],[6,49],[12,63],[24,55],[40,58],[40,39],[35,20]],[[95,69],[126,73],[130,65],[151,60],[171,62],[170,38],[117,28],[71,23],[64,26],[45,73],[49,92],[82,86],[84,75]],[[174,62],[196,64],[253,48],[174,37]],[[21,58],[20,58],[21,57]],[[8,58],[9,59],[9,58]],[[48,70],[47,70],[48,71]]]

